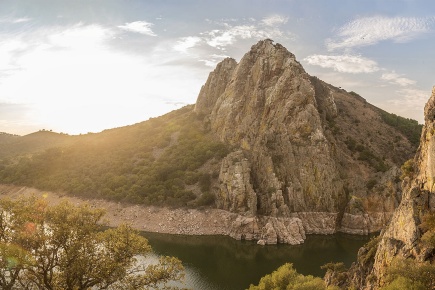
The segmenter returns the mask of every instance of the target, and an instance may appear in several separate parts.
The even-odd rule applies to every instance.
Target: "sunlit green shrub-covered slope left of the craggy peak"
[[[210,190],[217,174],[204,174],[201,167],[228,153],[227,146],[204,131],[191,107],[75,138],[68,146],[0,163],[0,179],[85,197],[202,206],[213,203]]]

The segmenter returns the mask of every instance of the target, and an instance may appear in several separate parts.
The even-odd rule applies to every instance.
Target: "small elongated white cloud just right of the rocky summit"
[[[311,55],[304,58],[311,65],[332,68],[344,73],[372,73],[379,70],[378,64],[365,57],[356,55]]]

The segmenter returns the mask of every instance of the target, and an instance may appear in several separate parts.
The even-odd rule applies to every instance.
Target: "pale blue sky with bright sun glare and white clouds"
[[[100,132],[194,104],[217,63],[266,38],[423,123],[433,0],[0,0],[0,132]]]

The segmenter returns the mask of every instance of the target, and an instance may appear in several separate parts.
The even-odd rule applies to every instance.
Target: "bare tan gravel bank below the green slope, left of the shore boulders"
[[[53,192],[40,191],[29,187],[0,184],[0,198],[31,196],[44,198],[50,205],[62,200],[72,204],[88,203],[95,208],[106,210],[105,220],[109,226],[128,223],[140,231],[186,234],[186,235],[229,235],[234,214],[219,209],[168,209],[154,206],[125,205],[101,199],[83,199]]]

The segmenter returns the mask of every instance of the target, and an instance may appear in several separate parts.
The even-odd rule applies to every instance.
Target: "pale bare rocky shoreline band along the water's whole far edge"
[[[89,204],[104,208],[104,222],[108,226],[130,224],[139,231],[177,235],[225,235],[237,240],[256,240],[258,244],[301,244],[307,234],[333,234],[336,230],[338,214],[307,212],[294,213],[291,217],[244,216],[221,209],[172,209],[155,206],[127,205],[119,202],[84,199],[54,192],[44,192],[29,187],[0,185],[0,198],[18,198],[35,195],[55,205],[62,200],[72,204]],[[379,230],[388,215],[378,219],[370,216],[346,216],[348,227],[339,230],[350,234],[369,234]],[[374,222],[373,222],[374,220]],[[320,221],[320,222],[319,222]],[[361,230],[361,222],[367,224]],[[358,229],[353,226],[358,223]],[[379,224],[381,223],[381,224]],[[379,224],[369,229],[369,224]]]

